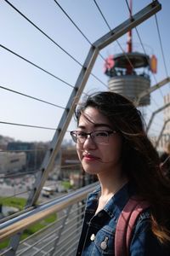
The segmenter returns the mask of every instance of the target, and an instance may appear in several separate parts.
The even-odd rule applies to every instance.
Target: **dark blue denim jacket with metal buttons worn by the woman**
[[[100,187],[88,195],[77,256],[115,255],[116,222],[129,197],[134,195],[134,191],[130,183],[127,183],[108,201],[104,209],[95,215],[99,192]],[[129,255],[170,255],[167,248],[161,246],[150,230],[150,209],[142,212],[135,224]]]

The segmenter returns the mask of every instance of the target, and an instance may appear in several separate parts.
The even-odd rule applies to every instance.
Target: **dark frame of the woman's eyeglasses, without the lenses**
[[[84,141],[82,143],[78,142],[78,138],[77,138],[77,133],[78,132],[82,132],[82,134],[84,135]],[[107,143],[98,143],[95,141],[95,137],[93,136],[93,133],[95,132],[106,132],[107,133],[107,138],[108,138],[108,142]],[[85,132],[85,131],[78,131],[78,130],[75,130],[75,131],[71,131],[71,137],[72,137],[72,140],[74,143],[77,143],[77,144],[83,144],[85,143],[85,141],[87,140],[88,136],[91,138],[91,140],[94,142],[94,143],[97,143],[97,144],[108,144],[109,143],[109,137],[111,134],[115,134],[116,131],[113,131],[113,130],[96,130],[96,131],[91,131],[91,132]]]

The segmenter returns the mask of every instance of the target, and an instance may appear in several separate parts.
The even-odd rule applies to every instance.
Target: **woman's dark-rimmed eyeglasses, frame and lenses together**
[[[84,131],[71,131],[71,137],[75,143],[82,144],[85,143],[86,139],[91,137],[94,143],[99,144],[108,144],[109,137],[111,134],[115,134],[116,131],[92,131],[92,132],[84,132]]]

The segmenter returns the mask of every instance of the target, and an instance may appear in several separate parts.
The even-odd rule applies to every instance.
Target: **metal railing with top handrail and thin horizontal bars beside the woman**
[[[20,241],[16,255],[74,255],[82,228],[84,203],[97,184],[77,189],[8,219],[0,224],[0,242],[56,213],[54,223]],[[8,247],[0,255],[9,255],[10,250]]]

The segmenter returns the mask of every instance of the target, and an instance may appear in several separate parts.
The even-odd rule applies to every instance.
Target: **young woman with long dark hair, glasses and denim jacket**
[[[170,184],[139,110],[124,96],[99,92],[76,109],[71,137],[85,172],[100,186],[88,196],[77,255],[115,255],[116,222],[132,196],[150,204],[133,226],[131,256],[170,255]],[[122,255],[124,256],[124,255]]]

